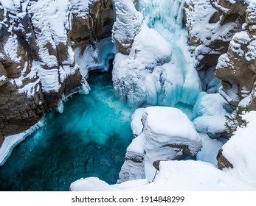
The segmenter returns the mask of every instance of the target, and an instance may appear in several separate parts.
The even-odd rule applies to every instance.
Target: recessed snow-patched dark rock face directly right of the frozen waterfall
[[[228,50],[232,37],[241,31],[247,6],[244,1],[186,1],[184,15],[190,43],[202,88],[208,93],[218,92],[221,86],[215,77],[215,66],[218,57]]]

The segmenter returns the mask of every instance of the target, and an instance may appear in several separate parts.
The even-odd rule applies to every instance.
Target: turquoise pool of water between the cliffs
[[[0,191],[68,191],[82,177],[115,183],[132,139],[131,113],[114,95],[110,74],[93,74],[89,95],[46,116],[0,167]]]

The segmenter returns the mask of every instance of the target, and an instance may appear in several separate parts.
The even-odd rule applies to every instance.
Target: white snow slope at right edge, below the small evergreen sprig
[[[234,167],[226,168],[225,172],[256,186],[256,111],[246,113],[242,118],[248,122],[247,126],[238,127],[232,138],[222,147],[222,154]]]

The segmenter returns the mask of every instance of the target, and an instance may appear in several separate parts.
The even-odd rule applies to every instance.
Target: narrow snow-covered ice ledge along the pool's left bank
[[[24,132],[21,132],[15,135],[10,135],[4,138],[4,142],[0,147],[0,166],[4,165],[8,157],[10,157],[10,154],[12,154],[15,146],[21,143],[21,141],[24,141],[24,139],[27,138],[27,136],[31,135],[32,132],[35,132],[36,129],[43,127],[43,125],[44,125],[44,118],[42,118],[41,121],[38,121],[37,124],[30,127],[30,129],[27,129]]]

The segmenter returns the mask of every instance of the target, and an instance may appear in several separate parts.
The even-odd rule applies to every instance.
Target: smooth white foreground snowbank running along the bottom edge
[[[95,177],[77,180],[72,191],[255,191],[255,185],[243,182],[210,163],[201,161],[162,161],[156,179],[134,180],[108,185]]]

